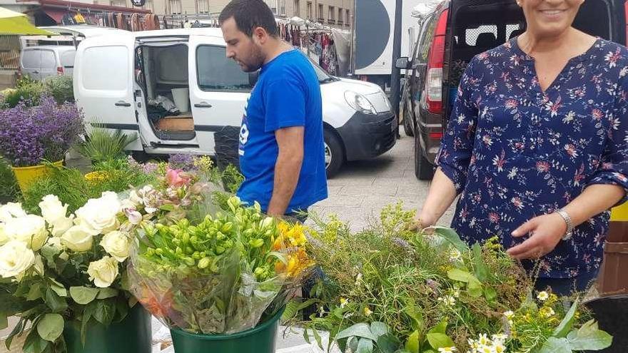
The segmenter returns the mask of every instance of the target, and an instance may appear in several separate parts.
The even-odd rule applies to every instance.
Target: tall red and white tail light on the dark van
[[[427,58],[427,78],[425,91],[427,92],[427,111],[442,113],[442,66],[445,63],[445,34],[447,32],[447,14],[442,11],[438,18],[434,39]]]

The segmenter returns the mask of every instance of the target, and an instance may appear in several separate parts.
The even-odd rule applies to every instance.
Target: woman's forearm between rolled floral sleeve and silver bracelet
[[[612,208],[626,195],[626,190],[617,185],[590,185],[564,210],[569,214],[574,226],[581,225],[596,215]]]

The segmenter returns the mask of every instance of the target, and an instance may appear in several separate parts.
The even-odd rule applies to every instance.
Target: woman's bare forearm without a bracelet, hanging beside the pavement
[[[450,178],[442,173],[440,168],[436,169],[430,191],[419,215],[423,226],[435,225],[456,199],[457,192],[454,183]]]

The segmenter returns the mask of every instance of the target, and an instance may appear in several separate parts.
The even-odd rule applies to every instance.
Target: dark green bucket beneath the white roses
[[[151,353],[151,314],[137,304],[128,315],[108,327],[91,320],[81,342],[81,322],[66,322],[64,338],[68,353]]]

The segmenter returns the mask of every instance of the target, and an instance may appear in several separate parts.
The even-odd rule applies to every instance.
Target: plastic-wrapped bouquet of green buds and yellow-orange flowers
[[[131,290],[168,327],[244,331],[293,296],[312,265],[306,241],[300,225],[232,197],[200,222],[144,222],[131,251]]]

